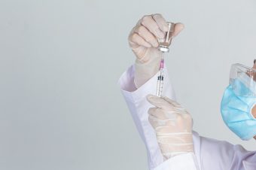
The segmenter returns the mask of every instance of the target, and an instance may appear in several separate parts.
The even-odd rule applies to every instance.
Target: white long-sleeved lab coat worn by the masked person
[[[193,132],[195,153],[185,153],[163,161],[154,129],[148,122],[148,108],[152,105],[146,100],[148,94],[156,93],[157,74],[136,90],[134,66],[131,66],[120,77],[119,83],[139,135],[147,148],[148,166],[151,170],[256,170],[256,151],[247,151],[242,146],[227,141],[204,138],[197,132]],[[175,99],[167,71],[163,96]]]

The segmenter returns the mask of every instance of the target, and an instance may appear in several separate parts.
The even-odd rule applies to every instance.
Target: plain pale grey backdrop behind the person
[[[117,80],[145,14],[182,22],[166,59],[200,135],[242,144],[221,120],[230,65],[256,57],[254,0],[0,1],[0,169],[147,169]]]

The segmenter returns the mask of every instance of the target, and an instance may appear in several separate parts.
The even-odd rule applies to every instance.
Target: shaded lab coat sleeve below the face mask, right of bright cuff
[[[255,170],[256,151],[245,150],[241,145],[211,138],[199,137],[200,163],[203,169]]]

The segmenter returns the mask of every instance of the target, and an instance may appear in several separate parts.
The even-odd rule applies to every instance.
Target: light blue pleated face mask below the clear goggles
[[[256,135],[256,119],[251,115],[256,96],[237,96],[232,87],[237,87],[240,93],[248,93],[248,88],[239,79],[232,85],[227,87],[221,101],[222,119],[239,138],[249,140]]]

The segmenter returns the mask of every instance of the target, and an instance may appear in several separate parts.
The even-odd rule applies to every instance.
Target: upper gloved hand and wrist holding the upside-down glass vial
[[[184,28],[182,23],[176,23],[173,37]],[[159,70],[162,53],[157,50],[157,38],[164,38],[168,25],[161,14],[152,14],[142,17],[130,32],[128,41],[136,55],[136,87],[141,87],[147,80],[154,77]]]

